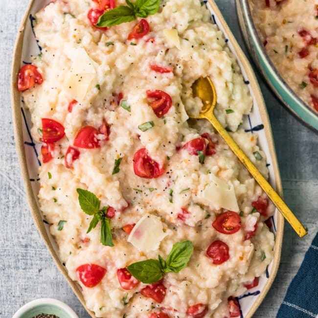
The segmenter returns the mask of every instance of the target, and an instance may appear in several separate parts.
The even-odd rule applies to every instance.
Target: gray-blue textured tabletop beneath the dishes
[[[67,282],[55,268],[28,211],[15,150],[10,102],[10,64],[16,31],[28,0],[0,0],[0,317],[10,318],[24,303],[53,297],[85,313]],[[216,1],[243,46],[234,0]],[[317,231],[318,135],[300,124],[279,104],[260,78],[275,140],[287,204],[309,234],[299,239],[285,226],[277,278],[256,318],[275,317],[290,281]]]

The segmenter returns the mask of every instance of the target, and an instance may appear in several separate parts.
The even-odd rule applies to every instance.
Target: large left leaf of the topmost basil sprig
[[[97,26],[105,27],[136,20],[135,12],[131,7],[120,5],[117,8],[106,11],[98,19]]]

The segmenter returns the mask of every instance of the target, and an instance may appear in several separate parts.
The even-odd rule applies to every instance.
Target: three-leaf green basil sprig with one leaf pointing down
[[[113,247],[114,243],[111,227],[109,224],[109,219],[106,217],[108,206],[104,206],[102,209],[100,209],[100,201],[92,192],[80,188],[77,188],[76,191],[78,193],[78,202],[81,206],[81,209],[86,214],[93,215],[87,233],[91,232],[91,230],[97,226],[98,222],[100,222],[100,243],[105,246]]]

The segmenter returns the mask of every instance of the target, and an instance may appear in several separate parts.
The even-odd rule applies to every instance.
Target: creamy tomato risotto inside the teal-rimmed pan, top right
[[[250,5],[274,66],[318,111],[318,0],[250,0]]]

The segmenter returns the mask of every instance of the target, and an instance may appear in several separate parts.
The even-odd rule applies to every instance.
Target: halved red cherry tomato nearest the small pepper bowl
[[[76,269],[77,277],[89,288],[95,287],[105,276],[107,270],[96,264],[83,264]]]

